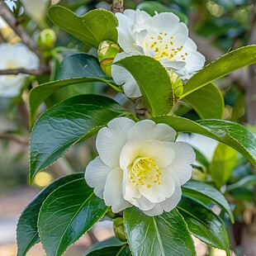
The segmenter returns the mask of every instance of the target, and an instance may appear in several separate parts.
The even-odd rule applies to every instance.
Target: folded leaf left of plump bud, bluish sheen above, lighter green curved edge
[[[32,126],[40,104],[52,93],[76,83],[103,82],[118,89],[111,78],[102,71],[96,57],[88,54],[67,56],[59,69],[59,79],[33,88],[29,94],[30,124]],[[84,86],[84,84],[81,84]]]

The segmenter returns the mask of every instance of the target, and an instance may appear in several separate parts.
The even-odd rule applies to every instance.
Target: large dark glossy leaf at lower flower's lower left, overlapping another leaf
[[[38,232],[48,256],[61,256],[104,216],[108,209],[84,178],[65,183],[40,208]]]

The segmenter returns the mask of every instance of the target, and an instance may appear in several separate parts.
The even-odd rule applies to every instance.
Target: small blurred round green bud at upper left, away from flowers
[[[55,47],[56,34],[51,29],[45,29],[40,32],[40,36],[37,39],[37,45],[40,50],[51,50]]]

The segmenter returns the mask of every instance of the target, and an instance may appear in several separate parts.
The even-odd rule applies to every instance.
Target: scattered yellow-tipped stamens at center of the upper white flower
[[[173,45],[173,36],[159,32],[159,35],[149,37],[147,47],[155,51],[154,59],[159,61],[162,59],[169,59],[170,61],[186,60],[187,52],[181,54],[183,46],[175,48]]]

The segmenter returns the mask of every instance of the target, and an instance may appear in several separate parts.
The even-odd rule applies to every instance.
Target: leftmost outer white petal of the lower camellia
[[[103,198],[103,190],[110,172],[111,168],[104,164],[99,156],[88,164],[84,177],[88,186],[94,187],[97,197]]]

